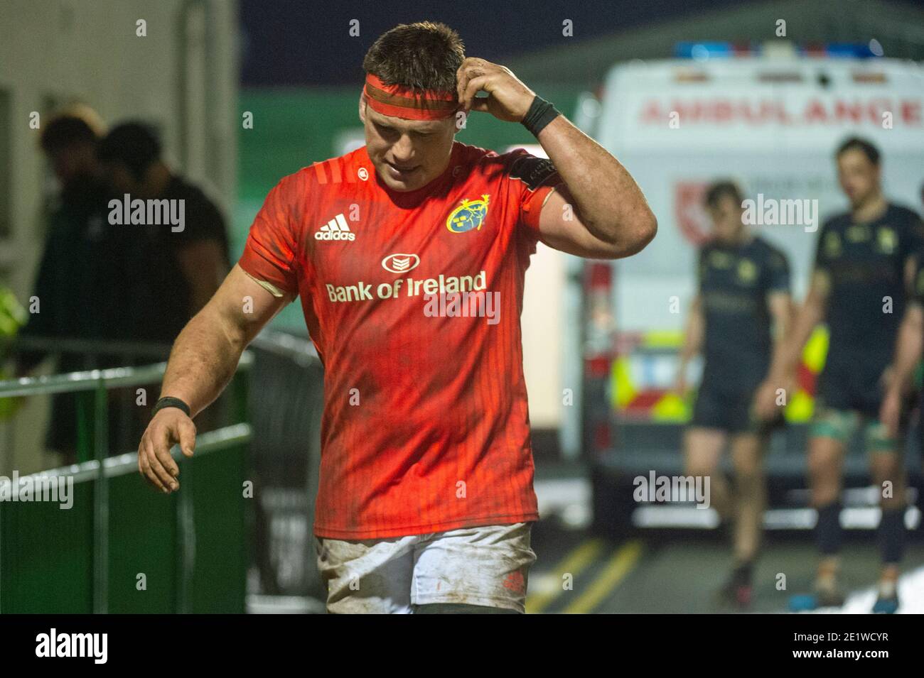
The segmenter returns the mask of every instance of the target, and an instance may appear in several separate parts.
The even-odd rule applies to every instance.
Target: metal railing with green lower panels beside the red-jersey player
[[[109,457],[107,438],[108,391],[160,382],[166,363],[0,381],[0,398],[81,403],[78,464],[0,480],[0,613],[244,612],[252,363],[246,351],[231,385],[237,423],[199,435],[193,458],[171,450],[169,496],[133,472],[136,453]],[[71,506],[30,492],[49,484],[69,484]]]

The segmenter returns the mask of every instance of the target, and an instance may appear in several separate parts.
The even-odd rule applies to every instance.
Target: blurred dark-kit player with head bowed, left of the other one
[[[789,265],[780,250],[742,222],[736,184],[712,184],[706,206],[713,238],[699,252],[699,294],[687,319],[677,391],[687,390],[687,363],[701,351],[702,382],[684,440],[687,474],[710,477],[711,505],[723,519],[734,520],[735,565],[722,598],[747,606],[765,505],[762,457],[772,428],[752,403],[789,327]],[[779,411],[767,416],[778,418]],[[734,497],[719,471],[728,444]]]

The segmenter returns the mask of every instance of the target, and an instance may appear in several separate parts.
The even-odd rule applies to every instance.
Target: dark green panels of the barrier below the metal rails
[[[247,437],[249,429],[238,433]],[[74,482],[69,509],[0,502],[0,613],[92,613],[98,596],[96,605],[109,613],[244,613],[247,446],[197,449],[179,467],[176,494],[152,490],[137,469],[104,481],[102,570],[94,530],[98,479]],[[95,585],[100,571],[104,587]]]

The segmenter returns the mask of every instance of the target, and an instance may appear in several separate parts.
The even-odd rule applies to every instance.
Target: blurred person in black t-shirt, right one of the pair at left
[[[132,339],[172,343],[230,269],[225,220],[198,187],[171,172],[150,125],[116,125],[98,157],[118,200],[183,201],[182,230],[163,223],[119,226],[132,235],[123,257],[128,303],[119,317]]]

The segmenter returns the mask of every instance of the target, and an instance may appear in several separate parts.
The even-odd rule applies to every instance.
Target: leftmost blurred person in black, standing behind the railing
[[[108,197],[96,146],[103,123],[85,106],[55,114],[44,125],[41,148],[60,192],[47,210],[47,236],[32,292],[37,307],[26,304],[30,315],[21,338],[122,339],[113,322],[120,306],[116,261],[119,245],[106,220]],[[16,375],[27,375],[50,351],[18,350]],[[58,351],[55,351],[58,352]],[[110,367],[116,358],[77,351],[60,351],[58,372]],[[77,399],[59,394],[52,400],[46,446],[60,452],[65,463],[77,455]]]

